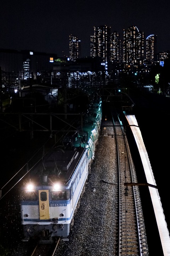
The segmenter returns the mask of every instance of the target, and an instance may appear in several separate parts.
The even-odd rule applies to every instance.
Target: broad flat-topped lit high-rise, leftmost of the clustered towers
[[[111,57],[111,27],[106,25],[94,27],[94,36],[91,36],[91,57],[100,57],[107,62]]]

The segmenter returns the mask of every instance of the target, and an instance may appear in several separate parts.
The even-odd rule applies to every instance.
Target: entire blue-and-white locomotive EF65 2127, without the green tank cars
[[[89,174],[88,150],[51,149],[20,190],[24,241],[52,243],[67,238],[74,224]]]

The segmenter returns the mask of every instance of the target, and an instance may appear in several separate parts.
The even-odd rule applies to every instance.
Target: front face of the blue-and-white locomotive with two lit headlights
[[[21,223],[25,237],[68,236],[72,206],[70,188],[34,186],[21,190]]]

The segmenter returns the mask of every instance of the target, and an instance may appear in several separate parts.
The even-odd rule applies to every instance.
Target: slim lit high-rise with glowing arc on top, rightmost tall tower
[[[157,36],[152,34],[146,38],[146,59],[153,63],[156,60],[156,53]]]

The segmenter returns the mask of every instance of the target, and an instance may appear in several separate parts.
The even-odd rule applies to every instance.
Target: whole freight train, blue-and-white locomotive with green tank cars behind
[[[24,180],[20,193],[24,239],[53,243],[67,240],[86,188],[102,119],[101,98],[84,115],[78,130],[67,134],[63,146],[51,148]]]

